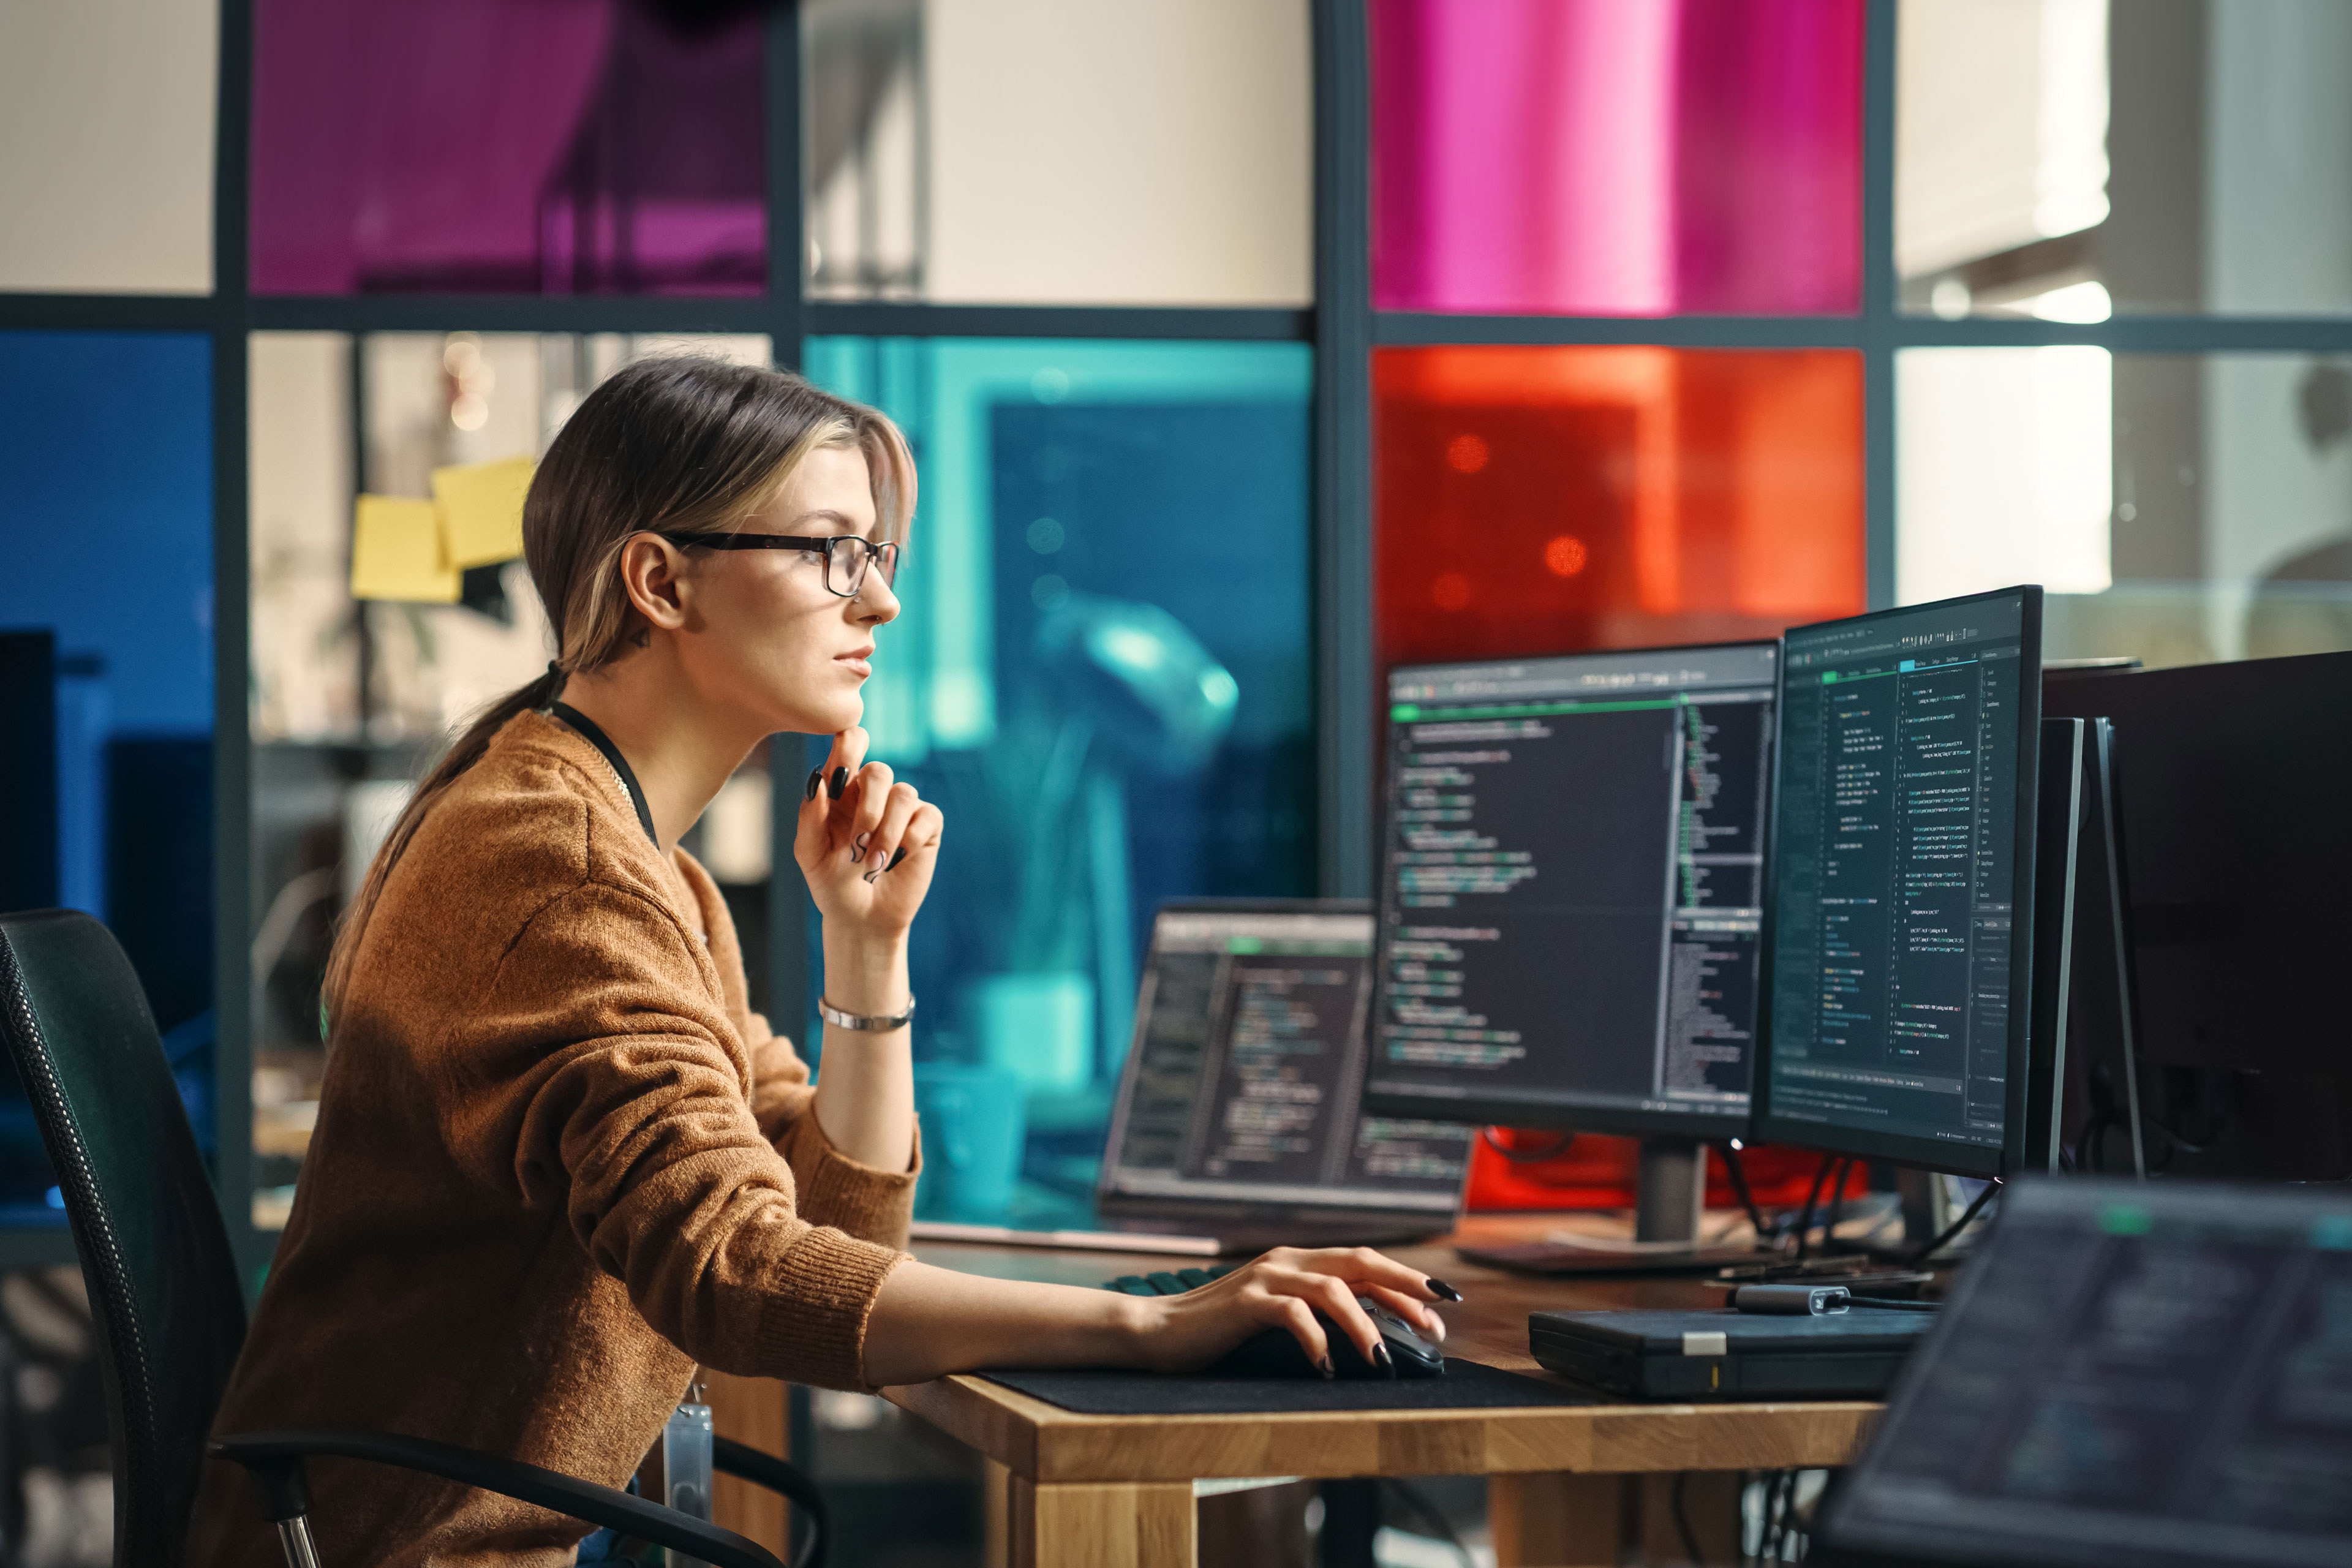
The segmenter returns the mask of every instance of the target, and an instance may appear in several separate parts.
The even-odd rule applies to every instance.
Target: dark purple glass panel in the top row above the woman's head
[[[757,294],[760,21],[259,0],[259,294]]]

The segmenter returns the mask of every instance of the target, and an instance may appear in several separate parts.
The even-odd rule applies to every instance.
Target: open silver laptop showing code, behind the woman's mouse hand
[[[1371,919],[1160,910],[1103,1194],[1454,1213],[1470,1128],[1359,1107]]]

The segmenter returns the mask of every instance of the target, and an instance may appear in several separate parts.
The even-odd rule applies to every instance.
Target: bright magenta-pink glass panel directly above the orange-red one
[[[1863,0],[1369,0],[1381,310],[1860,308]]]

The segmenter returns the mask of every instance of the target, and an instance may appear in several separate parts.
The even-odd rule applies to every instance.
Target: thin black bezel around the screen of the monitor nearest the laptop
[[[1625,658],[1630,654],[1710,654],[1722,649],[1771,649],[1773,651],[1773,712],[1771,724],[1764,731],[1766,745],[1766,773],[1764,788],[1764,872],[1766,872],[1766,898],[1771,889],[1771,780],[1778,778],[1778,748],[1780,748],[1780,670],[1788,663],[1785,649],[1778,637],[1733,637],[1726,642],[1668,642],[1653,649],[1566,649],[1552,654],[1498,654],[1494,658],[1430,658],[1416,663],[1390,665],[1381,677],[1383,689],[1383,715],[1388,712],[1388,684],[1399,675],[1409,677],[1416,670],[1477,670],[1479,665],[1519,665],[1555,658]],[[1383,724],[1385,731],[1385,724]],[[1367,1051],[1378,1051],[1378,1027],[1388,1006],[1388,964],[1381,961],[1383,936],[1390,929],[1388,922],[1388,891],[1390,882],[1390,856],[1397,851],[1397,835],[1388,832],[1390,799],[1395,797],[1392,762],[1395,748],[1381,748],[1381,820],[1376,832],[1381,835],[1381,882],[1378,898],[1374,898],[1374,933],[1371,933],[1371,1016],[1367,1020]],[[1769,905],[1766,905],[1769,907]],[[1762,966],[1762,936],[1757,943]],[[1503,1100],[1463,1095],[1461,1100],[1435,1098],[1435,1095],[1406,1095],[1406,1093],[1376,1093],[1371,1088],[1371,1074],[1364,1077],[1364,1110],[1383,1117],[1421,1117],[1423,1121],[1461,1121],[1465,1126],[1524,1126],[1524,1128],[1557,1128],[1573,1133],[1602,1133],[1616,1138],[1691,1138],[1691,1140],[1722,1140],[1722,1138],[1745,1138],[1752,1121],[1755,1107],[1755,1063],[1757,1048],[1764,1037],[1762,1016],[1762,983],[1764,973],[1757,971],[1757,1025],[1750,1030],[1750,1053],[1748,1053],[1748,1107],[1738,1112],[1672,1112],[1672,1110],[1632,1110],[1623,1105],[1590,1105],[1590,1103],[1526,1103],[1526,1100]]]

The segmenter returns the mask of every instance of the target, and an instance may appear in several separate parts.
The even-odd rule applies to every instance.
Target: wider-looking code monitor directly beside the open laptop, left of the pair
[[[1397,668],[1367,1105],[1748,1128],[1778,646]]]

